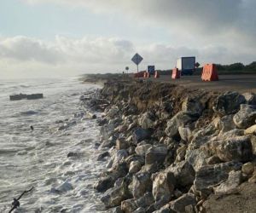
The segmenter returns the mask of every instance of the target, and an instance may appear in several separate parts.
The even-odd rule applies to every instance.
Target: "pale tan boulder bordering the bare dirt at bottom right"
[[[216,194],[229,194],[237,193],[237,187],[241,184],[242,176],[241,171],[230,171],[227,181],[221,183],[218,187],[214,188]]]

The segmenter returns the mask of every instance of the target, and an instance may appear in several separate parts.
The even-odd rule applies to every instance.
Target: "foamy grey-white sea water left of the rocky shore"
[[[104,211],[93,190],[105,166],[96,161],[99,127],[79,101],[99,88],[78,78],[0,80],[0,212],[31,187],[13,212]],[[9,101],[19,93],[44,99]]]

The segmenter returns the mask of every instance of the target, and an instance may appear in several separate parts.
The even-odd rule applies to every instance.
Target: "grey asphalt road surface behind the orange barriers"
[[[160,78],[151,78],[154,81],[170,82],[195,89],[207,89],[218,91],[238,91],[256,93],[255,75],[219,75],[218,81],[203,82],[201,76],[182,76],[179,79],[172,79],[170,75],[163,75]]]

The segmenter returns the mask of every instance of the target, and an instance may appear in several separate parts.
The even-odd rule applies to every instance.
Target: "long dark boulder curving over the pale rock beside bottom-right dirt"
[[[201,167],[195,174],[195,191],[211,193],[212,187],[221,181],[226,181],[231,170],[241,170],[241,163],[227,162],[222,164],[207,165]]]

